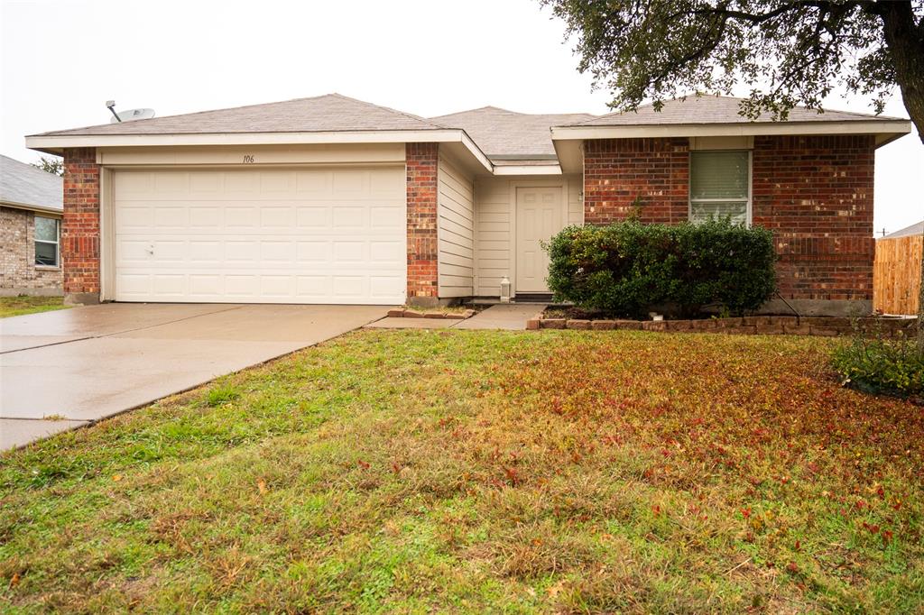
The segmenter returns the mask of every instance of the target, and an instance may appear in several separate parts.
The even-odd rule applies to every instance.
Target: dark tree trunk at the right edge
[[[918,27],[911,3],[906,0],[879,2],[877,8],[902,101],[924,144],[924,28]],[[924,352],[924,258],[918,295],[918,349]]]

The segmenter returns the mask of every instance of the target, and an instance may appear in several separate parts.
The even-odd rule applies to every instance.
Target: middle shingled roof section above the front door
[[[431,117],[447,128],[462,128],[481,151],[494,156],[554,156],[550,128],[594,117],[590,114],[518,114],[497,107],[481,107],[456,114]]]

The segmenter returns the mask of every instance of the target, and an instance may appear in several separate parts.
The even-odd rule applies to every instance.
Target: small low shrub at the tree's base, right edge
[[[924,351],[913,340],[857,332],[834,349],[832,364],[847,386],[860,391],[924,396]]]

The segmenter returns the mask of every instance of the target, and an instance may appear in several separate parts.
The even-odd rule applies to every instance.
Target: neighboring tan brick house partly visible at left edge
[[[57,175],[0,156],[0,296],[61,295]]]

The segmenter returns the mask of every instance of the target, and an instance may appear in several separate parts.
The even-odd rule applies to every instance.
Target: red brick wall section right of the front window
[[[872,299],[874,162],[867,135],[754,139],[753,223],[773,231],[784,297]]]

